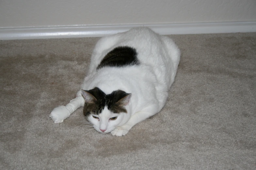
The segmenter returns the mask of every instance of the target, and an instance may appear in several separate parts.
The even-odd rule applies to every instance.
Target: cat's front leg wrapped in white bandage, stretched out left
[[[84,106],[85,100],[83,96],[78,96],[72,99],[66,106],[58,106],[53,109],[50,117],[54,123],[61,123],[67,119],[76,109]]]

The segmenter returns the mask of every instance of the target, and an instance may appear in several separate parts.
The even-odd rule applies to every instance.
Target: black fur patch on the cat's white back
[[[138,65],[137,52],[128,46],[116,47],[105,55],[97,70],[102,67],[125,67]]]

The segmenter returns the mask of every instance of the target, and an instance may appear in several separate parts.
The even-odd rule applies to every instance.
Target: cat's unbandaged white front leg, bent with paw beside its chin
[[[158,113],[158,106],[148,106],[144,108],[142,111],[136,112],[131,116],[131,118],[123,125],[116,127],[111,134],[114,136],[122,136],[126,135],[129,130],[136,125],[137,123],[146,120],[147,118]]]

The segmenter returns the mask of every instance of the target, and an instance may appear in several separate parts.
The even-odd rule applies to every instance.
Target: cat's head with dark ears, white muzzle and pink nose
[[[95,87],[91,90],[82,90],[82,94],[85,98],[84,115],[96,131],[109,133],[129,120],[131,114],[128,106],[131,93],[117,90],[105,94]]]

